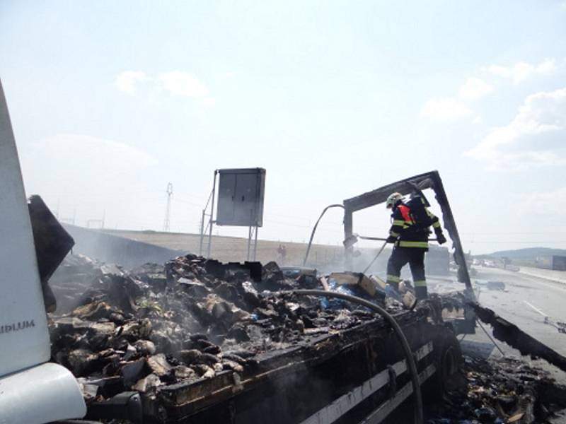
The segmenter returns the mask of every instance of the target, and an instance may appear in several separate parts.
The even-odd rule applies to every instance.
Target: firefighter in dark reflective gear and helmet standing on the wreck
[[[415,201],[422,203],[415,204]],[[417,300],[426,299],[428,295],[427,278],[424,276],[424,253],[429,249],[430,225],[439,244],[446,242],[440,221],[424,206],[424,199],[420,196],[405,204],[400,193],[392,193],[387,198],[386,208],[391,208],[393,218],[387,242],[394,244],[387,262],[387,283],[399,290],[401,268],[408,263]]]

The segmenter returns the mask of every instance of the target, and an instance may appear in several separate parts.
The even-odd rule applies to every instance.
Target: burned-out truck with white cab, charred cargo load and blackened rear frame
[[[0,177],[1,423],[423,423],[423,399],[465,383],[455,335],[473,331],[473,293],[436,172],[343,205],[350,237],[352,213],[384,193],[437,193],[466,290],[412,309],[273,262],[65,257],[72,238],[40,197],[25,200],[1,86]]]

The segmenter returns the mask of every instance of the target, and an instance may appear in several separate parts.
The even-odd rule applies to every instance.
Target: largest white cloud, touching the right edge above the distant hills
[[[566,164],[566,88],[529,95],[514,119],[465,154],[491,170]]]

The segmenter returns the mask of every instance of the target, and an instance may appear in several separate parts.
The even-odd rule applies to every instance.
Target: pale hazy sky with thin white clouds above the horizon
[[[0,0],[26,191],[79,225],[161,230],[171,182],[197,232],[215,169],[265,167],[260,238],[302,241],[439,170],[464,249],[566,248],[565,77],[565,1]]]

